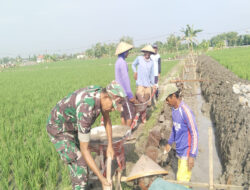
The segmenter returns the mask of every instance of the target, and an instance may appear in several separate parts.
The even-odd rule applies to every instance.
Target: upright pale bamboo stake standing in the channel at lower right
[[[213,169],[213,137],[212,127],[208,128],[208,148],[209,148],[209,189],[214,189],[214,169]]]

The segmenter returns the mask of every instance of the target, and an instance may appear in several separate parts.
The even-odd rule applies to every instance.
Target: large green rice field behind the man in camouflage
[[[112,81],[114,63],[115,58],[69,60],[0,73],[0,189],[71,189],[68,169],[48,138],[47,117],[70,92]],[[163,62],[161,76],[175,63]],[[129,72],[135,91],[130,65]],[[111,118],[120,123],[119,113]]]

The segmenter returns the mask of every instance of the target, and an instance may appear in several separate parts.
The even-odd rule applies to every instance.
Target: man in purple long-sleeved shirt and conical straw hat
[[[136,99],[133,96],[130,87],[130,79],[128,75],[128,64],[125,59],[128,57],[129,50],[133,48],[132,45],[126,42],[120,42],[116,48],[116,55],[118,55],[115,63],[115,80],[124,89],[126,98],[122,102],[123,111],[121,113],[122,125],[130,126],[135,116],[135,107],[133,103],[136,103]]]

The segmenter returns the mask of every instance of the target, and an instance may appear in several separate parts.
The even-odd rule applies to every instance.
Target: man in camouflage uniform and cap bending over
[[[79,89],[59,101],[52,110],[47,132],[61,159],[68,165],[73,189],[85,189],[87,166],[98,176],[103,187],[110,186],[88,150],[90,130],[102,113],[108,137],[107,157],[113,158],[109,112],[114,109],[121,111],[125,96],[119,84],[113,81],[106,88],[89,86]]]

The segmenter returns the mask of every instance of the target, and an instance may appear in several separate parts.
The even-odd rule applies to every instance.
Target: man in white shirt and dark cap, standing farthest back
[[[157,44],[154,44],[153,48],[155,50],[155,54],[152,54],[150,56],[150,58],[154,62],[154,77],[155,77],[155,84],[157,86],[157,90],[156,90],[155,96],[156,96],[156,98],[158,98],[158,96],[159,96],[158,80],[159,80],[159,77],[160,77],[160,74],[161,74],[161,56],[158,53],[158,46],[157,46]]]

